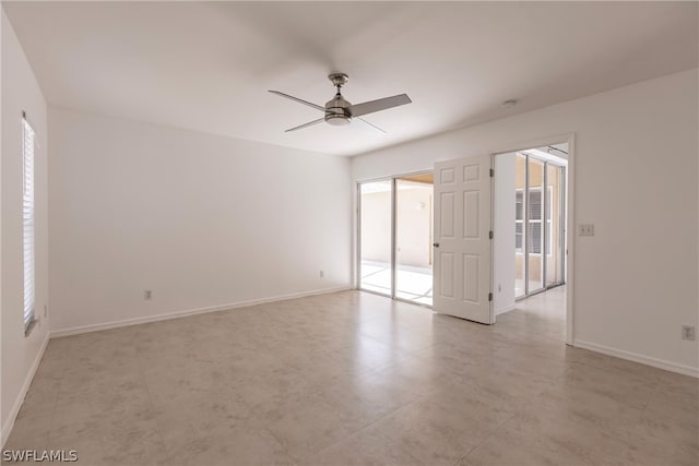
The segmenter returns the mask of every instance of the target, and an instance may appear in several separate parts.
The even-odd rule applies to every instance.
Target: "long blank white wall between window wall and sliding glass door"
[[[351,286],[347,158],[54,107],[49,122],[52,331]]]

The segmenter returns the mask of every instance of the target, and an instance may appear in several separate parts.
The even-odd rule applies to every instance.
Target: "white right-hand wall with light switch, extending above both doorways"
[[[690,70],[353,158],[356,180],[576,134],[574,340],[699,373],[698,75]]]

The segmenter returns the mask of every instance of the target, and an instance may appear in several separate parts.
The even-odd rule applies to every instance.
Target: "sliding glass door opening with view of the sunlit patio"
[[[431,172],[358,184],[359,289],[433,304]]]

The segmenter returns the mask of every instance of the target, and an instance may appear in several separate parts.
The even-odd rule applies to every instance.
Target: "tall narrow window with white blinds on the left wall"
[[[24,332],[28,334],[34,323],[35,282],[34,282],[34,130],[22,119],[24,191],[22,194],[22,223],[24,227]]]

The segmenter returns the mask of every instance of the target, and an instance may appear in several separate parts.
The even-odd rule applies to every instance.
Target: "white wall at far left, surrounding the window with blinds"
[[[12,428],[48,337],[46,101],[2,10],[2,443]],[[22,111],[36,131],[36,313],[38,324],[24,336],[22,240]]]

